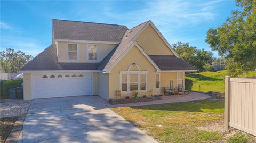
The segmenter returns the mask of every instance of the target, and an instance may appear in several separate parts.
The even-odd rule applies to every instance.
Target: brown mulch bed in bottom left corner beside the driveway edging
[[[5,117],[0,119],[0,142],[5,142],[12,131],[17,117]]]

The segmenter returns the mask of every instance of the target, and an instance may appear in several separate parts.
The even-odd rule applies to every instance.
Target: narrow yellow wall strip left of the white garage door
[[[31,100],[31,73],[23,74],[23,97],[24,100]]]

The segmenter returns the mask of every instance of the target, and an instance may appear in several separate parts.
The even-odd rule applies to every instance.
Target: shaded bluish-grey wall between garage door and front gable
[[[109,99],[109,74],[98,73],[98,95],[102,98]]]

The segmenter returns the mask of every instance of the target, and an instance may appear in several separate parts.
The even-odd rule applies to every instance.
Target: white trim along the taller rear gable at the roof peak
[[[161,39],[164,41],[164,43],[167,45],[167,47],[169,47],[169,49],[172,51],[172,53],[176,56],[179,57],[179,55],[174,51],[174,49],[171,47],[171,45],[168,43],[168,41],[164,38],[164,36],[162,35],[162,33],[156,28],[156,26],[154,25],[154,23],[149,20],[147,22],[147,24],[132,38],[131,41],[135,40],[148,26],[153,27],[153,29],[157,32],[157,34],[161,37]]]

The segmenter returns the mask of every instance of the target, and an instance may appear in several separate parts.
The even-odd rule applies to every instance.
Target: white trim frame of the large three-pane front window
[[[122,91],[122,74],[126,74],[126,76],[127,76],[127,91]],[[148,71],[120,71],[119,90],[121,91],[121,94],[133,93],[133,91],[130,91],[130,74],[138,74],[138,90],[137,90],[137,92],[147,92],[147,90],[148,90]],[[146,74],[145,90],[140,90],[140,83],[141,83],[140,74]]]

